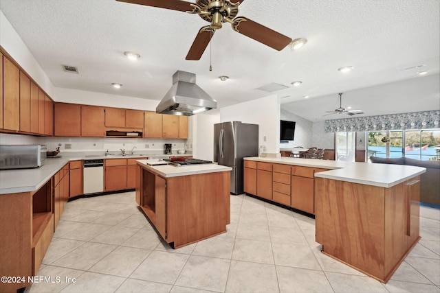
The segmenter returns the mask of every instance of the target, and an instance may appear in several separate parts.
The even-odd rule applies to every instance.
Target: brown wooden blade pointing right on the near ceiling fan
[[[232,21],[232,28],[236,32],[253,38],[257,42],[263,43],[278,51],[281,51],[292,42],[292,38],[241,16]]]

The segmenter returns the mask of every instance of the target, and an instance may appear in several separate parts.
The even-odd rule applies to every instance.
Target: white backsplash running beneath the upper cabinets
[[[173,145],[173,152],[177,150],[192,151],[192,141],[186,139],[123,139],[123,138],[93,138],[93,137],[33,137],[21,134],[0,133],[0,144],[26,145],[45,144],[47,150],[56,150],[58,145],[62,152],[106,152],[120,154],[120,149],[131,152],[157,152],[163,154],[164,143]]]

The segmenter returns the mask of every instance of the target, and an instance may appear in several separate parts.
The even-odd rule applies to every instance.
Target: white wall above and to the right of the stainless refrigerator
[[[277,95],[221,108],[220,120],[259,124],[259,145],[265,145],[267,156],[280,155],[280,98]]]

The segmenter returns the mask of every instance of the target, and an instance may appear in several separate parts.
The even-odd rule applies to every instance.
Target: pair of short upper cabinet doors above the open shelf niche
[[[144,111],[122,108],[105,108],[105,127],[144,128]]]

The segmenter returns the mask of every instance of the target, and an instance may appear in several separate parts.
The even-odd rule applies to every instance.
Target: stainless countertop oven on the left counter
[[[47,157],[45,145],[0,145],[0,169],[41,167]]]

